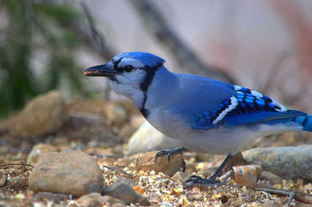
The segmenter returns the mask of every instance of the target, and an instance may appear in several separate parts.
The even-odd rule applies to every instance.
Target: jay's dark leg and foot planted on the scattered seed
[[[220,174],[220,172],[222,171],[224,166],[226,166],[226,164],[231,160],[232,157],[233,157],[233,155],[228,154],[227,157],[225,158],[225,160],[220,165],[220,167],[217,169],[217,171],[215,173],[213,173],[213,175],[210,176],[209,178],[204,179],[200,176],[194,175],[194,176],[191,176],[190,179],[188,179],[185,182],[191,182],[193,184],[201,184],[201,185],[214,185],[214,184],[220,183],[220,181],[216,181],[216,178]],[[193,178],[193,179],[191,179],[191,178]]]

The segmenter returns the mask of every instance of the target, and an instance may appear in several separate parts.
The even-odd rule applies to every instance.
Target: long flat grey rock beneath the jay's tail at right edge
[[[312,145],[296,147],[255,148],[243,152],[249,164],[261,165],[284,179],[312,180]]]

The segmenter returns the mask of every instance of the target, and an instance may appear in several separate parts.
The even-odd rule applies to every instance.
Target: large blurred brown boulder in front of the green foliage
[[[22,110],[12,133],[22,137],[37,137],[53,134],[63,126],[66,105],[57,91],[32,99]]]

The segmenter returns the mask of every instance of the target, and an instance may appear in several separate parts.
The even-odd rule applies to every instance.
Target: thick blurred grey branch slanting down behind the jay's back
[[[212,67],[201,63],[196,55],[183,43],[183,41],[170,29],[160,12],[148,0],[130,0],[134,8],[141,15],[145,25],[154,35],[164,43],[175,55],[181,65],[186,65],[190,73],[206,76],[212,79],[233,83],[232,79]]]

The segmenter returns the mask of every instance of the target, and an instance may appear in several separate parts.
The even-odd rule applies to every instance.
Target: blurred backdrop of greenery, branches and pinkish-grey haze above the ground
[[[83,70],[129,51],[311,113],[311,11],[305,0],[1,0],[0,119],[51,89],[119,99]]]

